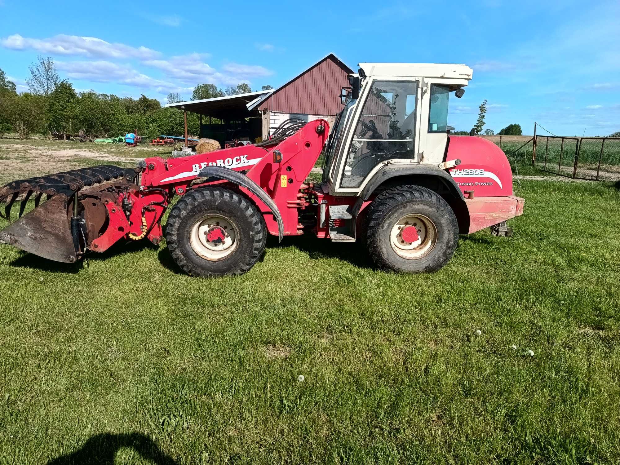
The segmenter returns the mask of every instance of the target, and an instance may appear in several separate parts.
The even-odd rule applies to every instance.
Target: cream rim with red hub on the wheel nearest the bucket
[[[230,218],[208,215],[198,219],[192,226],[190,246],[203,259],[215,262],[234,252],[239,242],[238,236],[237,226]]]

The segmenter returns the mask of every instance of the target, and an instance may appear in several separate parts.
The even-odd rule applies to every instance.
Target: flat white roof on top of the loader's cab
[[[473,71],[466,64],[441,63],[360,63],[366,76],[469,79]]]

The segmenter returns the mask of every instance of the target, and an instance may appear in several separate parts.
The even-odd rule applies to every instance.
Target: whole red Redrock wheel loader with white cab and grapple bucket
[[[190,275],[247,272],[268,234],[307,233],[361,242],[379,267],[438,270],[459,233],[508,236],[507,219],[523,213],[502,150],[446,131],[450,94],[461,97],[471,78],[462,64],[362,63],[331,130],[289,120],[254,145],[10,182],[4,216],[19,200],[20,219],[0,241],[76,262],[118,241],[159,244],[169,208],[166,244]],[[322,152],[322,182],[307,182]]]

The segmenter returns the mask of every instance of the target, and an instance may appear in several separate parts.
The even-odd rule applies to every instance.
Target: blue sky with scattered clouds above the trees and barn
[[[449,124],[534,121],[558,135],[620,130],[620,2],[0,0],[0,68],[24,91],[38,53],[79,91],[186,99],[202,82],[278,87],[334,52],[363,61],[465,63]],[[61,14],[61,11],[64,13]]]

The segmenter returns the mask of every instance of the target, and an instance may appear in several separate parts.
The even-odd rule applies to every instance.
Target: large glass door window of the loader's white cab
[[[380,162],[415,157],[417,81],[374,81],[347,154],[342,187],[359,187]]]

